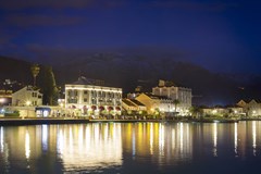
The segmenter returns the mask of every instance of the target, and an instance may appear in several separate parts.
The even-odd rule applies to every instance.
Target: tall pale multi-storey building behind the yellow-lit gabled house
[[[191,108],[191,89],[185,87],[177,87],[172,82],[159,80],[159,86],[152,88],[152,94],[156,96],[164,96],[172,101],[177,100],[177,112],[185,115]]]

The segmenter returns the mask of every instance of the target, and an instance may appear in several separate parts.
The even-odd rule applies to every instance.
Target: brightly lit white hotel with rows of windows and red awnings
[[[80,76],[77,82],[65,85],[65,108],[80,115],[120,114],[122,88],[105,87],[102,80]]]

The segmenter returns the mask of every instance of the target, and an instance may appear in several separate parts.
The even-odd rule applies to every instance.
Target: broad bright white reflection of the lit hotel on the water
[[[65,170],[122,164],[119,124],[60,127],[58,145]]]

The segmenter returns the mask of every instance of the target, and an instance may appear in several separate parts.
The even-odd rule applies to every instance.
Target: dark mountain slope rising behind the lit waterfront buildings
[[[57,60],[58,61],[58,60]],[[146,91],[158,85],[159,79],[174,82],[177,86],[192,89],[195,104],[229,104],[239,99],[260,99],[261,77],[250,76],[248,80],[226,74],[212,73],[201,66],[174,61],[169,58],[149,59],[139,55],[98,53],[86,58],[60,60],[53,65],[57,84],[64,86],[79,75],[103,79],[108,86],[122,87],[124,94],[141,85]],[[0,57],[0,79],[11,78],[32,83],[30,63]]]

